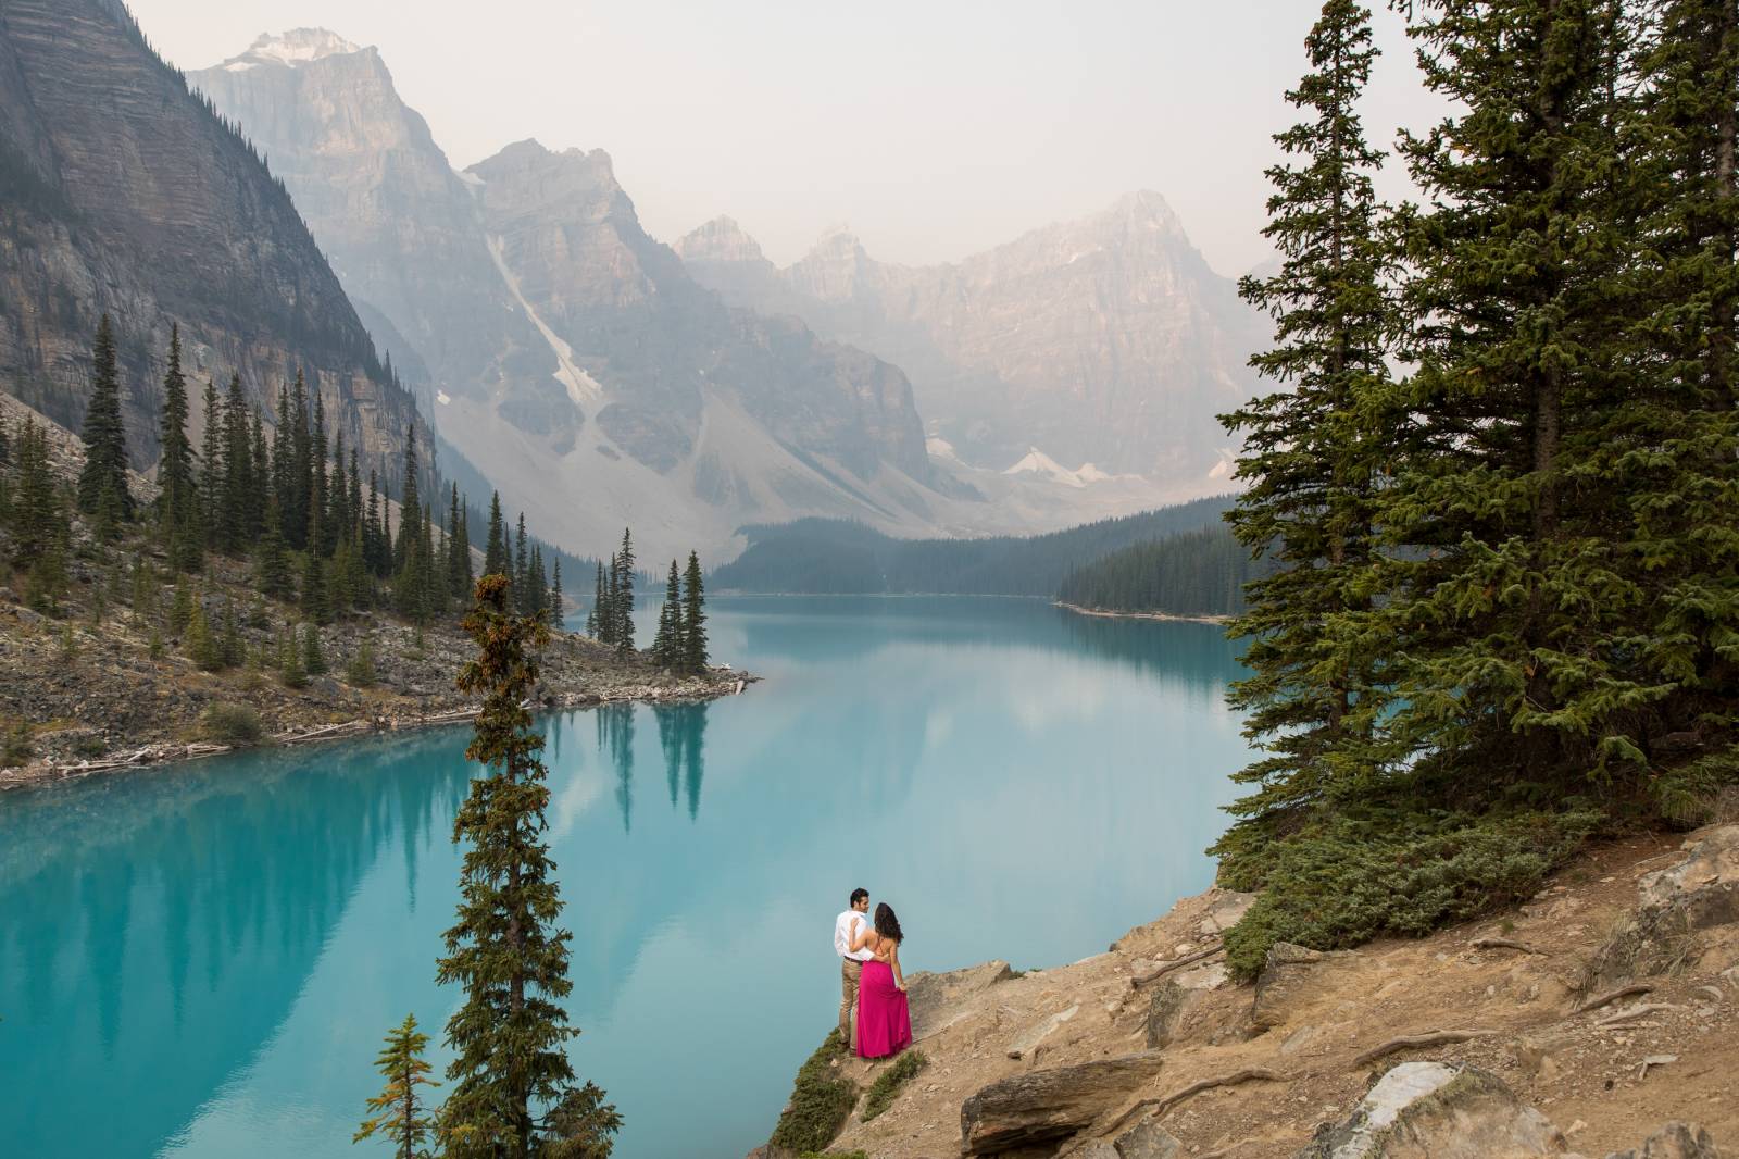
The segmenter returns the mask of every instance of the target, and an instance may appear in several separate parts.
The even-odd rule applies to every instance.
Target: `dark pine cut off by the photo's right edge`
[[[1715,785],[1739,774],[1739,541],[1715,533],[1739,510],[1739,10],[1725,0],[1662,0],[1638,71],[1640,202],[1633,291],[1636,343],[1657,352],[1629,369],[1624,426],[1609,442],[1614,491],[1635,515],[1629,560],[1642,592],[1643,680],[1673,689],[1636,731],[1662,811],[1696,818]],[[1685,769],[1652,759],[1652,736],[1697,733]]]

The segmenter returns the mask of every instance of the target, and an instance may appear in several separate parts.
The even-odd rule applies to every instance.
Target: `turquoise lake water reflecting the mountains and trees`
[[[833,917],[908,969],[1090,954],[1207,888],[1243,762],[1219,628],[1035,600],[723,599],[708,707],[543,719],[572,1058],[623,1159],[737,1159],[833,1025]],[[645,623],[654,616],[642,613]],[[0,1152],[350,1145],[381,1035],[435,1039],[468,729],[0,795]]]

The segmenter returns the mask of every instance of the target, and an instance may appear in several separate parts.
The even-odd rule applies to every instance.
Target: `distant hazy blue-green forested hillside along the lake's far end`
[[[746,527],[748,550],[715,588],[796,593],[1038,595],[1050,599],[1083,560],[1183,531],[1219,527],[1229,496],[1103,519],[1045,536],[894,539],[863,524],[803,519]]]

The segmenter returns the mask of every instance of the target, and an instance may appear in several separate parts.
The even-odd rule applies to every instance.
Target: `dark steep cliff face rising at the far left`
[[[179,324],[195,385],[240,372],[270,409],[303,369],[329,425],[396,479],[414,402],[247,141],[118,0],[5,0],[0,390],[77,428],[103,312],[136,465],[157,458],[162,358]]]

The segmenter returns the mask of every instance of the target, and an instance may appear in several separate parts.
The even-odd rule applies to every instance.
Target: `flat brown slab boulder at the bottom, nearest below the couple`
[[[1158,1051],[1143,1051],[991,1082],[960,1105],[962,1152],[998,1156],[1066,1140],[1122,1107],[1160,1065]]]

